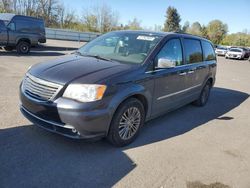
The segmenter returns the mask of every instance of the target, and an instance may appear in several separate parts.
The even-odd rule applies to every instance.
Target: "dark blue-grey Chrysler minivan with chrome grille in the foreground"
[[[131,143],[144,122],[188,103],[204,106],[214,85],[210,41],[188,34],[115,31],[74,54],[32,66],[21,112],[70,138]]]

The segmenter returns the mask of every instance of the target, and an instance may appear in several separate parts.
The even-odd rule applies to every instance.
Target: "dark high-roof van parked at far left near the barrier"
[[[6,51],[16,48],[18,53],[27,54],[31,46],[45,42],[45,27],[42,19],[0,14],[0,46]]]

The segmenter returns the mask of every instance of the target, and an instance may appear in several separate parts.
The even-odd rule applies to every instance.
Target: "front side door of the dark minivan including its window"
[[[175,67],[154,71],[154,97],[152,116],[159,115],[180,105],[188,87],[188,68],[184,65],[181,40],[168,40],[155,58],[155,65],[160,58],[175,62]]]

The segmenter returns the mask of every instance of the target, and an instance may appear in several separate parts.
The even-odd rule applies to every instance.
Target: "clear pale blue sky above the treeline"
[[[66,9],[81,15],[84,9],[106,4],[119,13],[120,23],[137,18],[143,27],[154,28],[165,21],[166,9],[174,6],[186,21],[208,24],[219,19],[228,25],[229,33],[250,31],[250,0],[59,0]]]

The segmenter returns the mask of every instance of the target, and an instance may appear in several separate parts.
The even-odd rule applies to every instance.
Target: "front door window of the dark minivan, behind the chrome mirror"
[[[176,66],[182,65],[182,48],[179,39],[171,39],[163,46],[159,54],[157,55],[157,60],[160,58],[165,58],[174,61]]]

